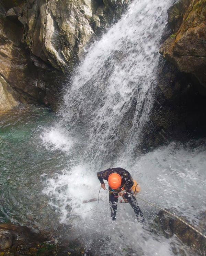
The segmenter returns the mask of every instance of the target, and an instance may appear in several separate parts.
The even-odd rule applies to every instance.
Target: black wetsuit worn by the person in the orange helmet
[[[130,188],[134,185],[134,181],[133,181],[133,178],[131,177],[130,173],[128,171],[126,171],[125,169],[119,168],[119,167],[118,168],[109,168],[107,170],[98,172],[97,177],[98,177],[99,181],[101,182],[101,184],[103,184],[104,183],[103,180],[108,181],[108,176],[114,172],[118,173],[121,176],[122,182],[121,182],[121,186],[119,188],[117,188],[116,190],[112,190],[112,188],[109,187],[109,191],[110,191],[109,192],[109,202],[110,202],[110,209],[111,209],[111,217],[112,217],[113,221],[115,221],[115,219],[116,219],[118,192],[120,192],[122,190],[122,188],[124,188],[126,191],[130,192]],[[124,197],[127,199],[128,203],[134,209],[136,216],[139,217],[139,215],[140,215],[142,217],[143,214],[137,204],[136,198],[127,193],[124,194]],[[144,218],[142,218],[141,221],[144,221]]]

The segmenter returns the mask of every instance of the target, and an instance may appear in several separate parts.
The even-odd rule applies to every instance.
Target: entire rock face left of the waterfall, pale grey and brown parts
[[[0,0],[0,112],[21,103],[54,110],[63,74],[70,74],[84,47],[111,22],[127,1]],[[26,3],[25,3],[26,2]]]

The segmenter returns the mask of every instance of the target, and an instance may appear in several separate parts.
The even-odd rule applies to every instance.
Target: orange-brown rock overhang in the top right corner
[[[181,72],[193,74],[206,94],[206,1],[181,0],[168,13],[173,34],[160,53]]]

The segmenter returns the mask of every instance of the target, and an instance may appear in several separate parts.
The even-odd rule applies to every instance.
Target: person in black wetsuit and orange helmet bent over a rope
[[[125,194],[125,191],[130,192],[130,188],[133,186],[133,178],[131,177],[130,173],[123,168],[109,168],[107,170],[101,171],[97,173],[97,177],[101,183],[101,187],[105,189],[105,184],[103,180],[108,181],[109,184],[109,202],[110,202],[110,209],[111,209],[111,217],[113,221],[116,219],[116,212],[117,212],[117,202],[118,202],[118,194],[124,195],[127,199],[128,203],[134,209],[134,212],[139,218],[141,216],[140,222],[144,222],[143,214],[137,204],[137,200],[134,196]],[[131,192],[130,192],[131,193]]]

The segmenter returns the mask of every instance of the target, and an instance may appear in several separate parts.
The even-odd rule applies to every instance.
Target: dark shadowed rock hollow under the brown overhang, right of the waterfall
[[[204,138],[206,95],[200,93],[197,79],[180,72],[163,58],[157,73],[153,109],[139,149],[148,150],[171,140],[187,143],[191,139]]]

